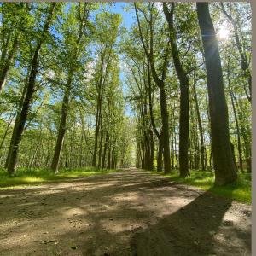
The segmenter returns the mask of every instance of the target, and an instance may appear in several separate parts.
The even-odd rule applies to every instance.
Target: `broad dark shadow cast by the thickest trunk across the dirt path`
[[[232,220],[224,220],[231,204],[231,199],[207,191],[157,224],[137,232],[131,239],[132,255],[251,255],[251,232],[237,229]]]

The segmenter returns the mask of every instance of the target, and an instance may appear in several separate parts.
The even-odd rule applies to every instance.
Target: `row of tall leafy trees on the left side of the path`
[[[59,167],[127,165],[120,15],[98,3],[0,8],[1,165],[9,174],[17,165],[55,173]]]

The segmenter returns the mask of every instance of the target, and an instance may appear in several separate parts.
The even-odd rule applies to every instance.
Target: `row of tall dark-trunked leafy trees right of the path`
[[[156,158],[158,171],[182,177],[213,167],[216,184],[236,180],[237,168],[250,172],[250,5],[212,3],[211,15],[208,3],[131,9],[123,50],[137,166],[152,170]]]

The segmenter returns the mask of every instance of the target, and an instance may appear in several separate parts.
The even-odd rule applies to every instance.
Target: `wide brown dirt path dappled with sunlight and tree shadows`
[[[128,169],[0,191],[0,255],[251,255],[251,207]]]

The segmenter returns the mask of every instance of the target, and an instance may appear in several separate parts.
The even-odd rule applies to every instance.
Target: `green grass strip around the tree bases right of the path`
[[[190,177],[179,177],[177,171],[171,174],[164,174],[163,172],[151,172],[161,176],[169,177],[171,180],[195,186],[199,189],[211,191],[213,194],[222,195],[235,201],[251,204],[252,189],[251,189],[251,174],[239,173],[236,183],[231,183],[224,186],[213,186],[214,172],[191,171]]]

